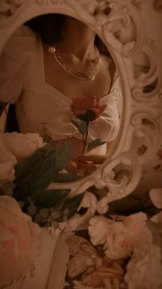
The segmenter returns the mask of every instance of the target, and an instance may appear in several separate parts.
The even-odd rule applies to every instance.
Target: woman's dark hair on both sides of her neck
[[[53,45],[60,41],[63,28],[65,26],[64,14],[43,14],[25,22],[24,25],[30,27],[40,38],[43,43]],[[102,54],[109,54],[106,45],[102,42],[99,36],[95,36],[95,45]]]

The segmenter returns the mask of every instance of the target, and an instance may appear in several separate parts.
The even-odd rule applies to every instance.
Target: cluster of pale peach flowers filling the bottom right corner
[[[148,228],[151,223],[156,228],[153,220],[158,216],[148,220],[140,212],[118,220],[92,217],[88,235],[79,231],[67,237],[70,259],[65,288],[161,288],[161,237]]]

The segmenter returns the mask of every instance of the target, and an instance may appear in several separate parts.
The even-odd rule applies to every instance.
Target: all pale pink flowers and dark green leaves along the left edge
[[[38,133],[1,133],[0,138],[0,286],[5,286],[32,270],[40,226],[57,228],[67,221],[84,192],[68,198],[69,189],[48,189],[53,181],[78,178],[62,173],[71,159],[69,140],[56,150],[56,142],[46,144]]]

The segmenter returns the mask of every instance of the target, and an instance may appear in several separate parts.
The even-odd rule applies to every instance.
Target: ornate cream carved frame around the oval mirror
[[[149,3],[148,3],[149,2]],[[107,204],[135,190],[141,168],[161,146],[161,59],[154,47],[160,33],[160,1],[143,0],[2,0],[0,3],[0,50],[12,33],[25,21],[40,14],[62,13],[89,25],[100,36],[113,56],[122,83],[123,111],[121,129],[115,149],[95,173],[83,180],[52,184],[70,188],[70,195],[82,193],[90,186],[108,192],[98,202],[91,193],[84,201],[89,207],[86,217],[97,210],[105,213]],[[153,6],[154,4],[154,6]],[[157,5],[157,6],[156,6]],[[154,17],[154,29],[148,20]],[[155,36],[153,35],[153,33]],[[156,41],[152,41],[155,37]],[[135,73],[135,64],[148,67]],[[153,84],[153,85],[152,85]],[[144,87],[152,86],[150,92]],[[135,139],[144,138],[143,154],[135,153]],[[121,167],[122,166],[122,167]],[[82,204],[84,206],[84,204]],[[84,220],[86,220],[84,216]],[[82,220],[83,221],[83,220]]]

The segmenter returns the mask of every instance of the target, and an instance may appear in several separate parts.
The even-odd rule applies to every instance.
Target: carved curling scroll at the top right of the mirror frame
[[[141,16],[128,2],[110,1],[109,7],[111,12],[102,28],[104,38],[112,42],[113,48],[120,51],[124,57],[129,58],[140,51],[143,45]],[[124,36],[124,30],[127,31],[127,38]]]

